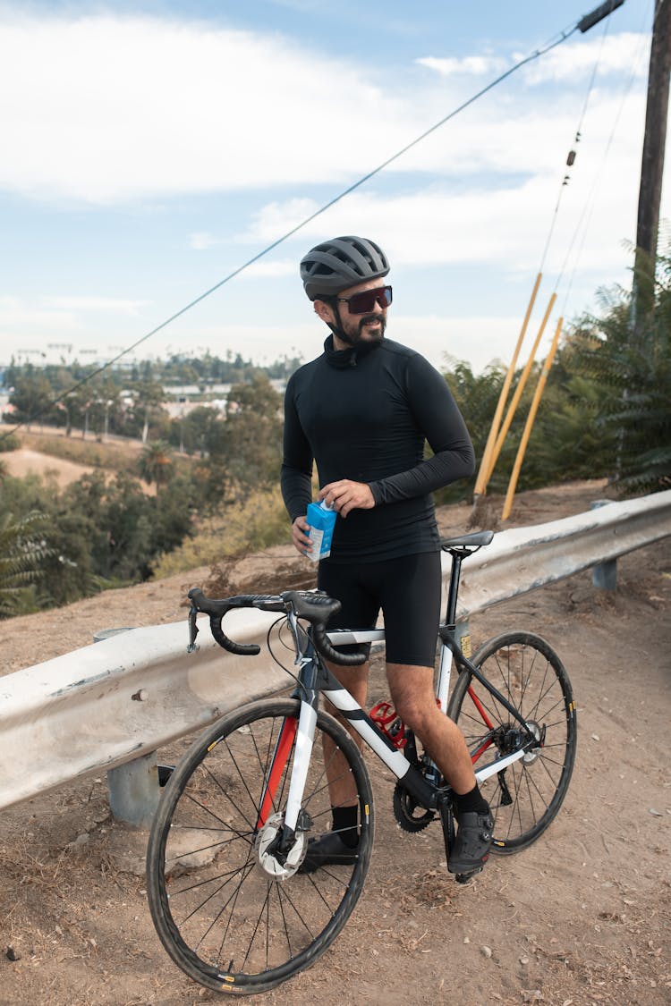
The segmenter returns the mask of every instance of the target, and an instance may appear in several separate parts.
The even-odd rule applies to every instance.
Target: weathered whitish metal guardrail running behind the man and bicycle
[[[460,618],[669,534],[671,491],[502,531],[464,565]],[[262,647],[275,618],[227,616],[234,639]],[[184,621],[133,629],[0,678],[0,807],[112,770],[113,811],[146,823],[158,802],[157,748],[291,684],[265,648],[235,657],[202,629],[190,655]]]

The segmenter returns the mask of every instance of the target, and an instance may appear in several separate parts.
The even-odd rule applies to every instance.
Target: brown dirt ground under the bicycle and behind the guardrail
[[[596,483],[525,493],[509,526],[578,513],[603,495]],[[464,530],[469,514],[466,506],[444,509],[444,531]],[[290,558],[288,548],[273,549],[251,574],[266,570],[272,578],[269,570]],[[2,672],[87,645],[100,629],[178,620],[185,584],[202,583],[207,572],[0,623]],[[670,612],[666,539],[619,561],[615,594],[594,589],[588,572],[473,619],[476,645],[504,629],[545,636],[570,675],[578,749],[557,819],[530,849],[491,857],[461,887],[446,870],[440,826],[400,831],[392,781],[369,758],[377,826],[363,895],[318,964],[259,1000],[671,1002]],[[370,698],[383,697],[378,662]],[[183,976],[154,934],[144,879],[120,853],[144,841],[110,817],[104,776],[0,815],[2,1006],[181,1006],[219,998]]]

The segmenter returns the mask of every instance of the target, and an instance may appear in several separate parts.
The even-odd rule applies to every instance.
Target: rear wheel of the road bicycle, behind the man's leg
[[[518,852],[545,831],[568,789],[577,731],[570,682],[554,650],[531,633],[497,636],[473,663],[539,740],[481,785],[494,817],[492,852]],[[514,717],[468,670],[459,675],[448,713],[466,737],[476,772],[520,747]]]

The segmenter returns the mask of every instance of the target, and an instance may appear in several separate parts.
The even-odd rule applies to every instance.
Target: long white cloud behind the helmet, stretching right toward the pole
[[[569,268],[580,238],[576,228],[590,213],[582,268],[602,271],[622,265],[621,241],[633,235],[638,181],[629,143],[613,149],[613,159],[601,165],[603,148],[592,152],[568,186],[561,190],[560,212],[546,268],[558,271],[571,242]],[[585,151],[586,154],[586,151]],[[563,155],[565,157],[565,154]],[[599,170],[601,169],[601,171]],[[473,185],[455,191],[449,183],[426,186],[409,195],[383,196],[374,189],[354,193],[301,231],[304,242],[327,233],[375,235],[397,266],[508,264],[515,272],[537,270],[553,218],[564,166],[556,172],[496,187]],[[629,179],[629,184],[623,180]],[[595,184],[597,183],[598,184]],[[274,202],[258,214],[250,237],[272,240],[298,222],[296,206]],[[505,268],[505,265],[504,265]]]

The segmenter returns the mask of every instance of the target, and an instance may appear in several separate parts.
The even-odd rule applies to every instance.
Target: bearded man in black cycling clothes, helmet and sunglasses
[[[474,453],[445,379],[384,336],[391,287],[380,281],[388,272],[381,248],[362,237],[324,241],[301,262],[306,294],[331,334],[323,354],[287,386],[282,492],[293,543],[306,553],[316,463],[319,499],[339,514],[331,555],[318,569],[319,588],[342,605],[329,628],[372,627],[381,609],[391,699],[457,795],[448,867],[469,873],[487,859],[493,821],[466,741],[436,705],[441,551],[430,494],[470,476]],[[368,664],[334,672],[364,705]],[[337,769],[329,772],[329,796],[333,830],[311,840],[306,872],[356,858],[356,801]]]

